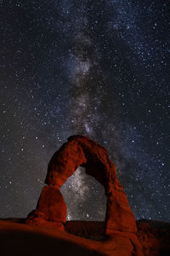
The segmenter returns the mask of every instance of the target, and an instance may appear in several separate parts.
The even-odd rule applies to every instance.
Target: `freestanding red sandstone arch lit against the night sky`
[[[104,147],[83,136],[69,137],[68,142],[54,153],[45,179],[48,186],[42,189],[37,209],[28,214],[26,223],[41,225],[53,222],[52,225],[64,229],[66,205],[59,188],[78,166],[84,166],[86,172],[105,188],[105,234],[109,235],[113,230],[136,233],[135,218],[123,186],[116,177],[116,166]]]

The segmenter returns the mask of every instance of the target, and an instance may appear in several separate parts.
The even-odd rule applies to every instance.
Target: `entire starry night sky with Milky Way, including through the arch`
[[[103,145],[135,218],[170,221],[170,1],[0,0],[0,217],[37,205],[67,137]],[[67,219],[104,220],[79,167]]]

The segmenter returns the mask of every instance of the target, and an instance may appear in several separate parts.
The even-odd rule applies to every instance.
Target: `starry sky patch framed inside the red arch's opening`
[[[105,221],[105,188],[86,168],[78,166],[60,187],[67,207],[66,220]]]

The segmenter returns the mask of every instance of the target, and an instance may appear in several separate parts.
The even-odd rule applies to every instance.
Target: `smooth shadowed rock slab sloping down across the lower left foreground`
[[[0,255],[2,256],[94,256],[110,255],[90,241],[54,226],[36,226],[0,221]]]

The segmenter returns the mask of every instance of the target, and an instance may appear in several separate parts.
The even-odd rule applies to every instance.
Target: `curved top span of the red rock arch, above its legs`
[[[107,150],[80,135],[69,137],[68,142],[55,152],[48,164],[45,183],[60,187],[78,166],[85,167],[86,172],[105,187],[106,195],[113,183],[122,187],[116,179],[116,166],[109,159]]]

